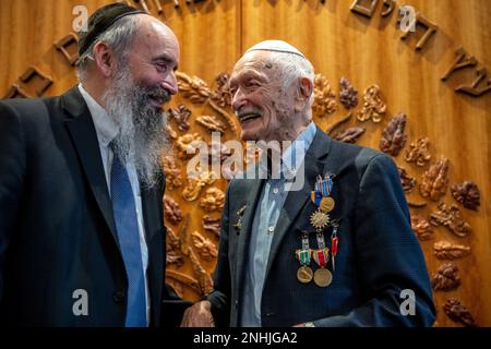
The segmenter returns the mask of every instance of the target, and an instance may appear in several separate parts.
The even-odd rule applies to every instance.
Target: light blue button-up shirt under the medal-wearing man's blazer
[[[279,179],[267,179],[263,186],[252,222],[243,297],[239,305],[241,310],[239,325],[242,327],[261,326],[261,299],[271,243],[279,213],[288,195],[284,173],[295,172],[301,167],[315,131],[315,124],[311,122],[283,153]]]

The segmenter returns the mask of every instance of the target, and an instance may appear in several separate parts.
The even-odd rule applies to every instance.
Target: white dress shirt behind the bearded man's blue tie
[[[106,183],[109,195],[111,195],[110,173],[112,166],[112,151],[109,143],[118,135],[118,125],[109,118],[106,110],[84,89],[82,84],[79,84],[79,91],[82,94],[88,110],[91,111],[92,120],[97,133],[97,140],[99,143],[100,158],[103,159],[104,173],[106,174]],[[145,298],[146,298],[146,323],[149,324],[149,293],[148,293],[148,248],[145,241],[145,227],[143,225],[143,210],[142,210],[142,196],[140,193],[140,182],[136,174],[136,169],[133,161],[129,161],[125,166],[128,177],[130,178],[131,189],[133,191],[133,198],[136,207],[136,217],[139,220],[139,233],[140,233],[140,249],[142,251],[142,265],[145,275]]]

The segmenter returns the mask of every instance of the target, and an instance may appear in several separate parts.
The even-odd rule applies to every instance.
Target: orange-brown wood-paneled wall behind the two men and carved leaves
[[[371,1],[358,2],[366,5]],[[61,94],[74,85],[74,69],[55,49],[53,43],[72,31],[72,9],[75,5],[86,5],[88,13],[92,13],[108,2],[110,1],[0,0],[0,96],[5,95],[13,83],[19,83],[19,76],[32,65],[52,77],[53,83],[45,95]],[[142,5],[142,1],[136,2],[136,5]],[[475,56],[480,65],[491,69],[489,1],[405,1],[439,26],[421,51],[415,49],[421,37],[420,27],[417,34],[410,35],[407,40],[400,39],[402,32],[396,26],[396,20],[402,1],[396,1],[395,11],[386,17],[381,16],[383,0],[378,1],[371,19],[351,12],[351,0],[327,0],[324,4],[318,0],[205,0],[191,4],[184,0],[179,2],[179,9],[175,9],[173,1],[161,0],[160,14],[154,0],[147,0],[146,4],[149,12],[165,20],[180,39],[181,72],[201,77],[213,91],[216,86],[215,77],[221,72],[230,72],[246,48],[263,39],[285,39],[310,58],[316,72],[327,77],[336,95],[339,94],[339,79],[348,77],[359,92],[360,103],[355,108],[355,115],[362,107],[364,88],[372,84],[380,86],[382,99],[387,106],[382,122],[362,123],[354,117],[339,127],[338,131],[347,127],[364,127],[367,131],[357,143],[379,148],[382,130],[393,116],[403,111],[407,115],[408,140],[403,152],[395,157],[398,165],[420,183],[421,176],[429,166],[440,156],[445,156],[451,164],[451,185],[471,180],[479,186],[481,201],[477,210],[457,204],[450,190],[443,197],[447,204],[457,204],[462,218],[472,228],[470,236],[457,238],[447,228],[436,227],[432,239],[421,241],[421,245],[431,274],[436,273],[440,265],[447,262],[433,255],[434,242],[446,240],[471,249],[468,256],[453,261],[458,266],[462,285],[452,291],[435,291],[439,311],[436,326],[460,326],[451,321],[443,311],[445,301],[452,297],[457,297],[465,304],[479,325],[490,326],[491,92],[480,97],[471,97],[454,91],[459,84],[470,84],[476,79],[475,68],[463,69],[446,82],[441,81],[456,58],[455,50],[460,46]],[[73,49],[74,47],[71,48]],[[41,82],[34,79],[21,86],[34,95],[35,88]],[[486,86],[486,81],[479,86]],[[335,112],[315,118],[315,122],[324,130],[347,115],[339,99],[336,100]],[[209,140],[209,134],[206,129],[196,124],[197,116],[215,115],[221,122],[226,121],[211,108],[208,100],[192,104],[190,98],[181,94],[172,101],[172,106],[180,103],[185,104],[193,112],[189,132],[197,132],[205,140]],[[173,121],[171,127],[177,130],[178,135],[185,133],[179,131]],[[236,137],[230,128],[225,135],[226,139]],[[404,159],[409,144],[421,136],[428,136],[431,141],[432,157],[430,164],[424,167],[408,164]],[[178,160],[177,164],[184,173],[185,161]],[[176,224],[168,220],[168,225],[178,240],[183,242],[180,250],[179,241],[176,244],[179,253],[185,254],[184,264],[170,264],[169,269],[187,275],[188,279],[173,274],[169,281],[184,297],[196,299],[209,288],[209,274],[215,263],[213,257],[206,258],[202,252],[213,252],[218,238],[202,227],[201,218],[206,213],[199,206],[201,198],[192,202],[182,198],[181,191],[188,180],[184,174],[181,174],[181,179],[182,186],[169,189],[167,195],[176,200],[183,218]],[[205,185],[203,192],[208,186],[225,190],[226,182],[220,180],[213,185]],[[438,204],[422,198],[418,190],[408,194],[408,200],[427,202],[423,208],[411,208],[414,214],[422,215],[427,219],[438,209]],[[217,218],[219,210],[208,215]],[[190,220],[184,229],[187,216]],[[205,238],[204,246],[193,245],[195,240],[189,236],[192,231],[199,231]],[[191,250],[185,246],[185,242],[190,243]],[[197,260],[194,260],[195,257]]]

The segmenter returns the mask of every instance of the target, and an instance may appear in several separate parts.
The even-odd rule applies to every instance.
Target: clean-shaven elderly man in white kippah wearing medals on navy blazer
[[[183,326],[433,324],[397,169],[315,127],[313,79],[284,41],[260,43],[237,62],[230,89],[241,137],[272,143],[266,164],[279,155],[279,171],[266,166],[266,178],[229,183],[215,290],[187,310]]]

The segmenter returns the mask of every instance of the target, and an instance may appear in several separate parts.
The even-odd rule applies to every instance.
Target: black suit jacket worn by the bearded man
[[[185,306],[164,282],[164,180],[142,189],[154,326],[178,324]],[[124,326],[127,288],[97,135],[79,89],[0,101],[0,322]],[[76,290],[88,296],[86,316],[74,315]]]

